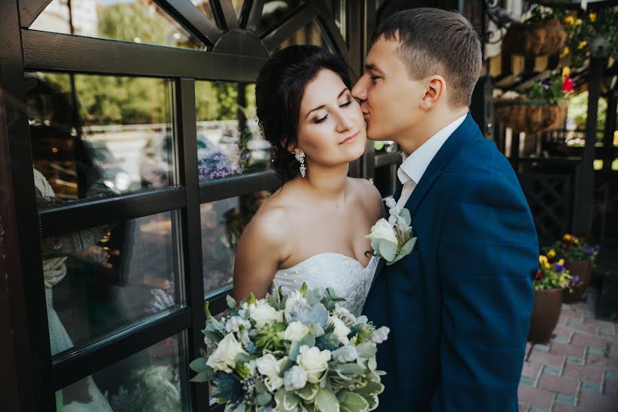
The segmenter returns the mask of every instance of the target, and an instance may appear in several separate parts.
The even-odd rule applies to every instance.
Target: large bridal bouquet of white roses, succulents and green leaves
[[[210,382],[211,395],[238,412],[359,412],[378,407],[384,386],[376,345],[389,328],[376,329],[339,305],[334,290],[308,290],[266,299],[253,295],[229,314],[211,316],[202,332],[211,354],[190,365],[193,382]]]

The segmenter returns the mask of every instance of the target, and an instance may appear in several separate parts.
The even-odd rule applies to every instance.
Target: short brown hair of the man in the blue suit
[[[450,106],[470,106],[483,53],[468,19],[437,8],[402,10],[382,21],[371,41],[381,37],[400,41],[399,56],[413,80],[439,74],[448,84]]]

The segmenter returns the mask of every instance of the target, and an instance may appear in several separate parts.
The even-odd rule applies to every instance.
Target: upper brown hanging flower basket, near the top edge
[[[502,49],[527,57],[551,56],[562,51],[567,32],[558,19],[542,24],[512,23],[502,41]]]

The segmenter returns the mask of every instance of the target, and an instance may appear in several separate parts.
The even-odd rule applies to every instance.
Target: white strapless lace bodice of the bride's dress
[[[310,289],[333,288],[345,302],[341,306],[359,315],[378,268],[372,257],[367,267],[341,253],[320,253],[290,268],[277,271],[271,292],[282,286],[284,293],[300,288],[305,282]]]

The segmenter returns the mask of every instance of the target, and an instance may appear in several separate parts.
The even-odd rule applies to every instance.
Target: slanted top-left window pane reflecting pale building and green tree
[[[134,43],[205,49],[203,43],[155,1],[53,0],[30,28]]]

